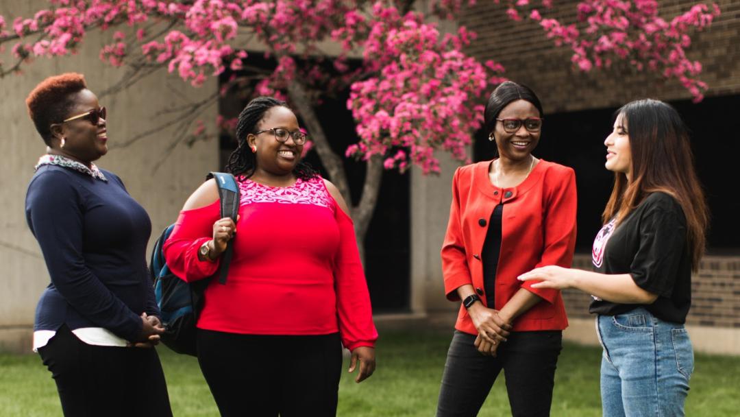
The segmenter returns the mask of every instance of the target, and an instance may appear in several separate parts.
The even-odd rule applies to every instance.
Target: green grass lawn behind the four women
[[[345,373],[339,416],[434,416],[452,332],[385,331],[377,344],[377,370],[355,384]],[[159,349],[175,416],[218,416],[195,358]],[[566,344],[556,373],[553,416],[601,416],[601,350]],[[345,369],[347,364],[345,363]],[[687,416],[737,416],[740,358],[696,356]],[[61,416],[50,373],[36,355],[0,355],[0,416]],[[480,416],[511,416],[503,377]]]

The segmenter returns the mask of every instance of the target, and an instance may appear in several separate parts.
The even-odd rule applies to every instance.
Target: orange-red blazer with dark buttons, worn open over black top
[[[522,282],[517,276],[545,265],[571,267],[576,245],[576,175],[572,168],[540,160],[521,184],[502,189],[488,179],[490,165],[491,161],[483,161],[455,171],[442,247],[445,294],[459,301],[457,288],[472,284],[486,304],[480,253],[491,213],[503,202],[493,308],[500,310],[519,288],[526,288],[544,300],[517,317],[514,331],[563,330],[568,318],[559,290],[532,288],[532,281]],[[478,333],[462,305],[455,328]]]

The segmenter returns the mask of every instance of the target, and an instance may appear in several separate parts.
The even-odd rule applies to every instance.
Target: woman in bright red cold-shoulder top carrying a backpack
[[[219,218],[211,179],[164,244],[186,281],[212,276],[235,245],[226,284],[204,293],[198,363],[222,416],[334,416],[341,344],[360,382],[374,371],[377,338],[346,203],[300,162],[306,135],[283,101],[250,101],[236,134],[237,224]]]

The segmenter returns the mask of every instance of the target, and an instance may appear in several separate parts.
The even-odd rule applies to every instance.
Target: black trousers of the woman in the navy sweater
[[[38,353],[64,416],[172,416],[154,349],[86,344],[65,325]]]

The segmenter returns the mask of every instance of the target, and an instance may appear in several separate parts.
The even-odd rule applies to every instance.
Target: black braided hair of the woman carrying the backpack
[[[246,136],[249,133],[255,133],[257,131],[257,125],[263,119],[268,110],[272,107],[285,107],[290,110],[288,104],[285,101],[277,100],[272,97],[258,97],[252,99],[246,104],[244,110],[239,113],[239,119],[236,126],[236,139],[238,146],[234,152],[229,155],[229,161],[226,164],[226,171],[234,175],[244,176],[246,178],[251,177],[255,174],[257,169],[257,157],[252,150],[249,149],[249,144],[246,143]],[[318,176],[317,170],[305,161],[298,161],[295,168],[293,168],[293,174],[302,179],[303,181],[309,180]]]

